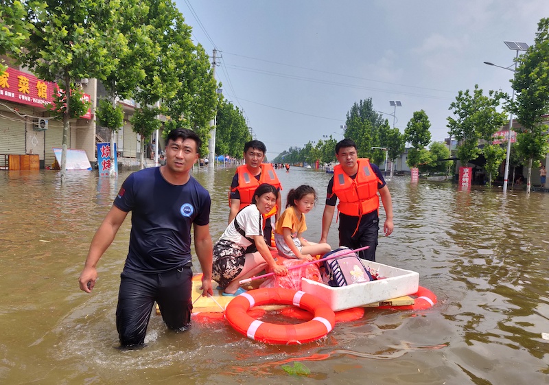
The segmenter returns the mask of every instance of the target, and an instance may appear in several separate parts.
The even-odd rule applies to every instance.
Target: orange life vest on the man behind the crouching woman
[[[250,174],[250,170],[248,170],[248,166],[246,165],[238,166],[236,168],[235,174],[238,175],[238,186],[231,191],[238,190],[240,194],[239,210],[242,210],[244,207],[251,205],[253,193],[255,192],[255,189],[257,189],[257,187],[259,187],[259,185],[261,185],[262,183],[268,183],[269,185],[277,187],[277,189],[282,189],[279,178],[277,178],[277,174],[274,172],[274,168],[272,167],[272,163],[261,163],[261,176],[259,176],[259,180],[257,180],[255,176]],[[231,205],[230,197],[231,195],[229,193],[229,206]],[[270,213],[265,215],[265,218],[269,218],[276,212],[277,207],[275,206],[272,208]]]

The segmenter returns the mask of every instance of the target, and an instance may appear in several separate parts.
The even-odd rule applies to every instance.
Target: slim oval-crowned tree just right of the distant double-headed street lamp
[[[424,110],[414,112],[412,119],[406,124],[404,140],[409,142],[415,150],[408,151],[408,159],[406,159],[408,167],[418,167],[421,164],[428,163],[429,156],[421,150],[431,141],[430,127],[429,117]]]

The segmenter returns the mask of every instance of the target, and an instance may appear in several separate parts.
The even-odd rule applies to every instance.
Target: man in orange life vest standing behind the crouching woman
[[[268,183],[282,189],[277,174],[271,163],[263,163],[265,153],[267,152],[266,145],[257,140],[248,141],[244,144],[244,165],[237,167],[233,183],[231,183],[231,191],[229,192],[229,224],[235,219],[238,211],[244,209],[252,202],[253,193],[261,183]],[[279,209],[281,207],[280,194],[277,198],[277,206],[266,215],[265,219],[272,218],[276,221],[279,217]],[[265,221],[264,237],[266,243],[270,246],[272,235],[271,220]]]

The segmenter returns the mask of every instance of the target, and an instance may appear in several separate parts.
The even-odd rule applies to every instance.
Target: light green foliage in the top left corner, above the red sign
[[[17,57],[21,47],[34,30],[34,25],[25,20],[25,7],[18,0],[3,0],[0,7],[0,55]],[[0,74],[5,71],[0,62]]]

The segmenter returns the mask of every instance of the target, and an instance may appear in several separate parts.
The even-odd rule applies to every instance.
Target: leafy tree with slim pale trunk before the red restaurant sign
[[[56,106],[63,118],[62,185],[67,174],[69,120],[74,116],[71,84],[81,78],[105,80],[117,66],[109,46],[116,41],[113,18],[118,6],[115,0],[25,1],[25,22],[33,23],[34,30],[17,58],[39,78],[57,82],[64,95]]]

